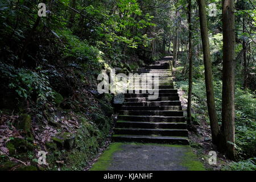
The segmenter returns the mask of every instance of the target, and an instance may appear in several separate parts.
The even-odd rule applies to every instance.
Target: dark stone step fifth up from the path
[[[163,115],[163,116],[183,116],[182,110],[120,110],[122,115]]]

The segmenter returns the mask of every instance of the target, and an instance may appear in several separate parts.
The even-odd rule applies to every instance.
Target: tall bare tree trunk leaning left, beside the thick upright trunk
[[[205,87],[207,92],[207,107],[210,118],[210,129],[212,130],[212,142],[217,143],[219,126],[218,118],[215,109],[214,102],[214,90],[212,82],[212,63],[210,61],[210,49],[209,49],[209,36],[207,27],[207,18],[205,12],[205,1],[197,0],[199,5],[199,18],[200,18],[200,28],[201,28],[201,38],[203,44],[203,54],[204,54],[204,72],[205,72]]]

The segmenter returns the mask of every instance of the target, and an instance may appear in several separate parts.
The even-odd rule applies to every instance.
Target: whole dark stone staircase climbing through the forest
[[[177,89],[174,89],[168,60],[134,73],[159,74],[159,97],[127,93],[114,128],[114,142],[189,144],[188,130]]]

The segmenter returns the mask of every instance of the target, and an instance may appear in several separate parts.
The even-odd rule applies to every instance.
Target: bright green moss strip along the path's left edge
[[[90,169],[90,171],[105,171],[110,166],[112,156],[114,152],[117,152],[119,150],[122,150],[123,143],[112,143],[108,147],[107,150],[104,151],[104,153],[101,155],[100,159],[98,159],[97,163],[93,164],[93,167]]]

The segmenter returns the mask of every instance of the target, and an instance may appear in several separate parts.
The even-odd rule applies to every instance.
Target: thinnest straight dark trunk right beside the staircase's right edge
[[[191,126],[191,97],[192,97],[192,24],[191,24],[191,0],[188,0],[188,55],[189,55],[189,78],[188,78],[188,125]]]

